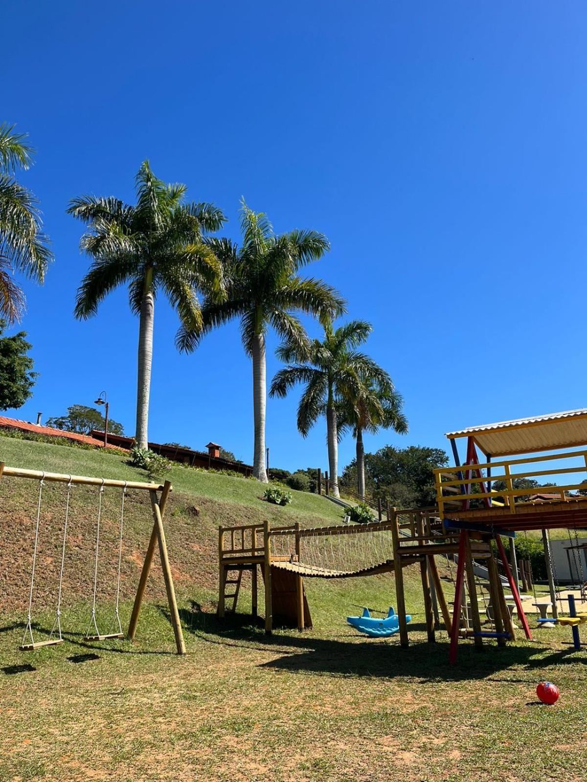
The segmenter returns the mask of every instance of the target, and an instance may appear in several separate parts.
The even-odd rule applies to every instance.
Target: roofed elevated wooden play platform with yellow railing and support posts
[[[587,479],[587,408],[472,426],[448,432],[447,437],[455,466],[434,471],[439,517],[446,529],[459,530],[461,552],[466,551],[470,536],[495,540],[522,619],[517,584],[501,536],[540,529],[547,541],[548,529],[587,526],[587,497],[582,496]],[[463,463],[459,439],[466,442]],[[504,458],[511,456],[516,458]],[[547,493],[538,493],[538,488],[524,484],[524,479],[548,482]],[[553,590],[548,555],[546,565]],[[459,557],[456,604],[462,597],[464,567]],[[525,619],[522,623],[530,637]],[[458,633],[452,633],[452,662],[457,642]]]

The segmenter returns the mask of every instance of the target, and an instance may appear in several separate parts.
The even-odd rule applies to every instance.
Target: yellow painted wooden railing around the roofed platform
[[[560,467],[547,469],[532,469],[531,465],[556,461],[560,459],[579,460],[578,465],[574,467]],[[514,468],[514,469],[513,469]],[[487,471],[492,474],[488,476]],[[517,472],[517,471],[520,472]],[[481,473],[481,478],[479,474]],[[504,503],[510,508],[510,513],[515,513],[517,506],[524,501],[524,497],[531,494],[548,493],[556,494],[553,502],[566,502],[567,492],[585,489],[582,482],[560,483],[556,480],[560,475],[584,475],[587,478],[587,450],[575,450],[567,454],[549,454],[547,456],[526,457],[521,459],[508,459],[507,461],[484,462],[479,465],[461,465],[460,467],[441,467],[434,470],[436,479],[436,496],[438,500],[438,510],[441,518],[446,515],[445,506],[449,506],[454,511],[465,507],[467,500],[486,500],[491,498],[492,505],[502,505],[496,502],[496,497],[503,497]],[[513,482],[520,478],[543,478],[548,476],[556,486],[535,486],[531,489],[517,489]],[[584,478],[582,477],[582,480]],[[505,489],[481,492],[478,490],[479,484],[487,484],[488,480],[492,482],[503,481],[506,484]]]

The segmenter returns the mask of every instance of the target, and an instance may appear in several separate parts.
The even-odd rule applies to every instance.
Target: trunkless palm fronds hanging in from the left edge
[[[53,257],[41,228],[38,200],[14,177],[16,170],[32,164],[33,149],[26,138],[14,132],[14,125],[0,124],[0,317],[10,324],[20,320],[25,308],[14,271],[42,283]]]

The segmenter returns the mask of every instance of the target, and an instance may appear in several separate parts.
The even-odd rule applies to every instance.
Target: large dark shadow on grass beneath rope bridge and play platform
[[[412,640],[409,647],[403,648],[397,636],[392,640],[363,640],[351,634],[321,638],[315,637],[311,630],[265,635],[262,622],[251,616],[229,614],[220,620],[214,614],[203,612],[198,604],[192,608],[180,612],[187,632],[211,644],[274,652],[280,656],[262,662],[261,668],[304,675],[370,676],[387,680],[405,677],[421,683],[464,681],[489,678],[512,666],[542,668],[551,662],[562,662],[567,655],[564,651],[544,658],[546,647],[538,644],[507,647],[485,644],[477,650],[472,644],[462,643],[457,664],[449,665],[446,637],[439,637],[434,644]],[[419,627],[420,623],[410,625],[410,630]]]

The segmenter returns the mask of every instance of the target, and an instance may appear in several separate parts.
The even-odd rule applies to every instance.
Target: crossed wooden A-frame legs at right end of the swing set
[[[167,504],[167,497],[171,492],[171,483],[165,481],[161,497],[157,497],[156,491],[150,492],[151,508],[153,510],[153,532],[149,539],[149,546],[147,547],[145,554],[145,561],[142,563],[141,577],[139,579],[139,587],[135,597],[135,604],[132,608],[131,621],[128,624],[128,638],[129,640],[135,640],[136,626],[139,621],[139,613],[141,611],[142,598],[145,594],[147,579],[149,579],[149,572],[151,565],[153,564],[153,556],[155,554],[155,547],[159,543],[159,554],[161,558],[161,568],[163,569],[163,576],[165,579],[165,591],[167,592],[167,603],[169,605],[169,613],[171,616],[171,626],[173,626],[173,632],[175,635],[175,646],[177,647],[178,655],[185,655],[185,642],[183,640],[182,623],[179,619],[178,604],[175,600],[175,587],[173,585],[173,577],[171,576],[171,567],[169,565],[169,557],[167,554],[167,543],[165,542],[165,531],[163,527],[163,514],[165,511],[165,505]]]

